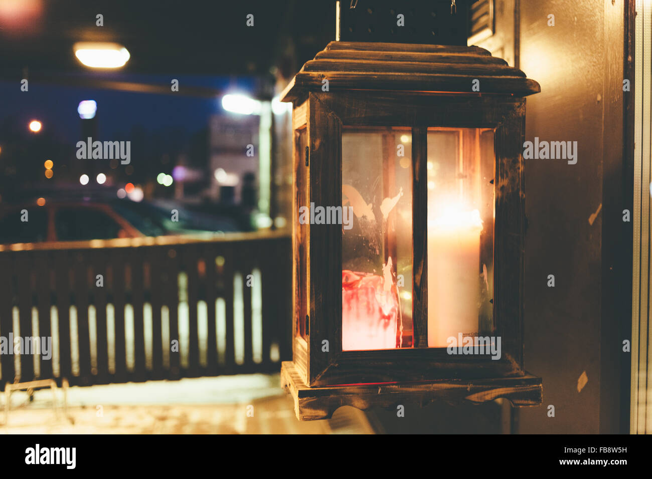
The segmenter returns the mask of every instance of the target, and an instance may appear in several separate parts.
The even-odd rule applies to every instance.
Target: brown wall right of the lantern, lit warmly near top
[[[623,17],[623,0],[520,1],[520,68],[541,84],[526,140],[578,142],[576,164],[526,160],[525,362],[544,404],[519,411],[522,433],[618,431],[624,338],[605,282],[619,258],[602,248],[623,229]]]

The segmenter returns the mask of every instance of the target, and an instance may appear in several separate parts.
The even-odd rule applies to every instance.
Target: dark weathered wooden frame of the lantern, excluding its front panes
[[[328,91],[322,91],[323,80]],[[479,92],[473,91],[474,80]],[[303,299],[295,300],[293,361],[283,363],[282,382],[295,397],[299,418],[328,417],[344,404],[392,405],[406,391],[421,403],[436,397],[541,403],[541,379],[523,364],[524,97],[538,91],[538,83],[482,48],[359,42],[331,42],[288,85],[282,100],[294,106],[295,222],[300,203],[341,204],[343,128],[406,127],[412,133],[414,345],[342,351],[342,227],[304,225],[302,235],[295,224],[293,293]],[[430,127],[494,130],[493,334],[501,336],[499,360],[427,347]],[[307,149],[300,143],[303,129]],[[305,248],[304,258],[299,248]]]

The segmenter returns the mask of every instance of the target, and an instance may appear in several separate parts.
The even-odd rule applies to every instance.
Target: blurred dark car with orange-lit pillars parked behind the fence
[[[25,214],[27,216],[25,216]],[[0,244],[83,241],[162,235],[198,235],[238,231],[229,218],[197,218],[179,210],[179,221],[149,203],[115,201],[46,201],[0,205]],[[23,221],[26,218],[27,221]]]

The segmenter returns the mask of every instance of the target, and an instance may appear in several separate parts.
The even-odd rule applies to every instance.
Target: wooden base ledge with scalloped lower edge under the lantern
[[[313,387],[304,383],[292,361],[281,367],[281,385],[294,399],[299,420],[328,419],[341,406],[370,409],[375,406],[394,408],[406,402],[421,407],[436,399],[447,403],[484,403],[498,398],[508,399],[515,407],[538,406],[543,400],[540,377],[496,379],[441,379],[420,383],[385,383]]]

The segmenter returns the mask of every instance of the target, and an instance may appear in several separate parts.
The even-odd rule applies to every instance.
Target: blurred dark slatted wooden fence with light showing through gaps
[[[65,377],[71,385],[91,385],[278,371],[280,361],[291,355],[289,237],[269,233],[176,240],[107,240],[104,248],[90,242],[31,244],[30,250],[3,247],[0,334],[36,336],[36,315],[38,336],[54,338],[52,359],[37,356],[36,368],[34,355],[20,356],[20,376],[14,370],[16,356],[0,355],[0,387],[19,378]],[[248,287],[247,275],[255,270],[261,285]],[[98,274],[103,286],[97,285]],[[233,339],[236,274],[243,279],[241,362],[235,361]],[[254,287],[261,295],[261,340],[252,335]],[[223,300],[224,308],[216,308],[216,300]],[[18,321],[13,321],[16,313]],[[200,334],[200,321],[207,321],[206,334]],[[218,321],[224,323],[220,348]],[[164,332],[169,341],[180,340],[179,352],[163,343]]]

